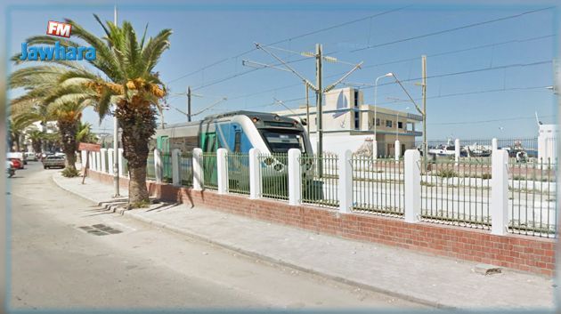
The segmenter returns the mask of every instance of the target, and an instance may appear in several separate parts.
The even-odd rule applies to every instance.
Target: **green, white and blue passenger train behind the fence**
[[[256,148],[262,155],[270,156],[264,158],[261,163],[264,169],[262,175],[281,177],[287,176],[288,165],[284,154],[289,149],[300,149],[303,155],[313,155],[312,145],[304,126],[302,121],[272,113],[232,111],[208,116],[196,122],[159,128],[150,141],[150,149],[159,149],[163,154],[169,154],[173,149],[190,152],[192,149],[200,148],[205,154],[215,153],[216,149],[224,148],[228,153],[248,154],[249,149]],[[248,162],[236,167],[239,168],[237,173],[246,173],[242,168],[247,170]],[[209,168],[215,169],[215,166],[211,165]],[[312,172],[313,166],[305,165],[303,177],[313,178]],[[232,183],[232,180],[236,181],[235,175],[232,174],[229,178],[231,185],[240,185],[248,181],[240,178],[238,182]],[[205,175],[206,183],[214,184],[215,173],[205,173]],[[286,187],[282,189],[284,188]]]

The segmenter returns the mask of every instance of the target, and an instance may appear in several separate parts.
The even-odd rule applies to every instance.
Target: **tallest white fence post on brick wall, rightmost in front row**
[[[508,151],[497,149],[492,152],[491,176],[491,233],[502,236],[508,229]]]

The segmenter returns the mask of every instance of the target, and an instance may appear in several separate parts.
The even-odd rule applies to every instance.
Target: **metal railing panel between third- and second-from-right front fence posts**
[[[353,210],[364,213],[402,215],[405,187],[403,160],[354,156]]]

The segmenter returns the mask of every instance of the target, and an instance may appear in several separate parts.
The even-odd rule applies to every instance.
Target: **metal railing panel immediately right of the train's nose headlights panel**
[[[302,155],[298,160],[302,173],[302,202],[322,206],[338,206],[337,155]],[[322,166],[319,175],[317,165]]]

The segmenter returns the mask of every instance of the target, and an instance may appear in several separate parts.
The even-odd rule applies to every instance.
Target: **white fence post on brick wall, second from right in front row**
[[[420,152],[407,149],[404,160],[405,222],[419,222],[421,216]]]

